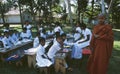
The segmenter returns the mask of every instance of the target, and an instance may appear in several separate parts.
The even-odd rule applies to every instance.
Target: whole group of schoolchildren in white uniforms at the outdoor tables
[[[21,33],[14,30],[5,31],[4,35],[0,34],[0,41],[3,43],[4,48],[9,48],[19,40],[32,39],[32,26],[26,21],[26,25]],[[34,38],[33,48],[36,51],[36,64],[39,67],[50,67],[55,63],[55,55],[63,49],[64,45],[71,46],[72,53],[71,58],[81,59],[82,48],[89,46],[92,33],[90,29],[86,27],[84,23],[77,23],[74,31],[74,42],[69,43],[67,41],[67,35],[60,27],[60,23],[57,22],[54,30],[51,28],[46,32],[44,28],[40,28]],[[45,42],[47,38],[54,38],[53,44],[49,47],[46,52]],[[69,63],[69,62],[67,62]],[[66,67],[67,68],[67,67]]]

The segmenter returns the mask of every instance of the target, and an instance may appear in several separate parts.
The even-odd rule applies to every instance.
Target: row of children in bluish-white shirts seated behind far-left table
[[[4,35],[0,35],[0,41],[3,43],[4,48],[9,48],[15,45],[19,40],[32,39],[31,33],[27,31],[26,28],[23,28],[21,33],[16,30],[5,31]]]

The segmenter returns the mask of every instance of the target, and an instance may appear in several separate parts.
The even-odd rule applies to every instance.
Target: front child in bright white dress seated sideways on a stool
[[[52,65],[52,62],[47,58],[45,54],[45,38],[41,37],[39,39],[40,45],[38,47],[37,55],[36,55],[36,61],[38,67],[50,67]]]

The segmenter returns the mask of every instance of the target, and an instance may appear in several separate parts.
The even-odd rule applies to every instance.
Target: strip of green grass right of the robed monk
[[[120,74],[120,29],[114,31],[114,48],[109,63],[108,74]]]

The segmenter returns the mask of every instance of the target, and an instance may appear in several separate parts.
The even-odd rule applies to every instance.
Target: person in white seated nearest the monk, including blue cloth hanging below
[[[72,58],[75,59],[82,58],[82,54],[79,53],[82,52],[82,48],[90,45],[90,40],[92,37],[92,32],[90,31],[90,29],[86,27],[84,23],[81,24],[80,28],[81,28],[82,37],[75,42],[72,53]]]

